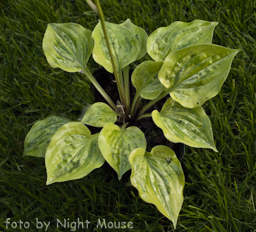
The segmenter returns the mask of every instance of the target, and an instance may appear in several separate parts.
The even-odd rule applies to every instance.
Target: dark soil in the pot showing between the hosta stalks
[[[130,69],[130,77],[132,74],[133,69]],[[115,77],[112,73],[108,73],[106,69],[101,68],[97,69],[94,73],[93,76],[96,78],[97,82],[99,82],[100,86],[106,91],[106,93],[110,96],[110,98],[116,103],[116,101],[120,101],[116,82],[115,82]],[[95,102],[104,102],[107,103],[106,100],[99,94],[97,89],[92,85],[91,87],[92,92],[95,94]],[[131,92],[131,102],[132,99],[135,96],[136,89],[132,86],[130,83],[130,92]],[[168,96],[165,98],[161,99],[161,101],[158,101],[156,105],[151,106],[147,112],[145,113],[151,113],[153,110],[158,110],[160,111],[162,106],[164,105],[166,99],[168,99]],[[145,106],[145,104],[148,103],[148,100],[142,99],[140,108]],[[139,110],[140,110],[139,108]],[[147,117],[145,119],[141,119],[137,122],[135,122],[131,126],[136,126],[145,133],[145,138],[147,140],[147,151],[150,152],[150,150],[157,146],[157,145],[166,145],[173,149],[175,152],[176,156],[181,160],[184,157],[184,144],[183,143],[172,143],[168,140],[163,135],[163,131],[154,124],[152,117]],[[88,126],[90,131],[92,131],[92,134],[100,132],[101,128],[96,128],[96,127],[91,127]]]

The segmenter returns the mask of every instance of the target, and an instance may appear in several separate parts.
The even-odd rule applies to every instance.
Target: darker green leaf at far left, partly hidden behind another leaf
[[[25,138],[24,156],[45,157],[53,134],[68,122],[71,120],[56,115],[49,115],[46,119],[36,122]]]

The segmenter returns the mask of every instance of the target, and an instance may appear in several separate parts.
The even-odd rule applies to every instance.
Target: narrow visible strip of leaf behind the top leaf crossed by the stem
[[[136,60],[141,59],[147,53],[147,33],[141,27],[132,24],[129,18],[120,25],[127,27],[140,43],[140,53],[138,54]]]

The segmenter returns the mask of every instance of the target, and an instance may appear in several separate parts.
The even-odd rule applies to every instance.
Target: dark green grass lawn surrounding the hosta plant
[[[182,160],[186,185],[177,229],[154,205],[143,202],[129,184],[103,168],[80,180],[45,185],[44,159],[23,157],[24,138],[37,120],[51,112],[79,117],[92,96],[79,73],[52,69],[42,52],[50,22],[76,22],[91,31],[97,17],[83,0],[0,1],[0,231],[4,222],[90,221],[76,231],[94,229],[97,219],[131,221],[124,231],[256,231],[256,2],[254,0],[101,1],[106,20],[127,18],[152,33],[177,20],[219,22],[212,43],[241,50],[220,94],[204,104],[218,153],[186,148]],[[146,56],[143,60],[149,59]],[[99,68],[91,58],[89,68]]]

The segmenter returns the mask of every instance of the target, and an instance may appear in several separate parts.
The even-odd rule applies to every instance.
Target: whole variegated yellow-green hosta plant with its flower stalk
[[[216,22],[173,22],[150,36],[127,19],[122,24],[100,20],[93,32],[74,23],[48,24],[43,50],[52,68],[82,72],[109,103],[88,107],[81,121],[50,115],[36,122],[26,136],[24,156],[45,157],[47,185],[83,178],[105,161],[118,179],[128,170],[141,199],[156,205],[175,227],[183,202],[184,174],[175,152],[158,145],[147,151],[143,132],[134,120],[152,117],[167,140],[217,152],[211,122],[202,105],[220,92],[238,50],[213,45]],[[134,69],[129,65],[146,53]],[[86,66],[90,55],[114,73],[120,96],[116,105]],[[146,110],[170,96],[161,111]],[[139,107],[141,99],[150,100]],[[132,101],[131,101],[132,100]],[[102,127],[92,134],[86,127]]]

